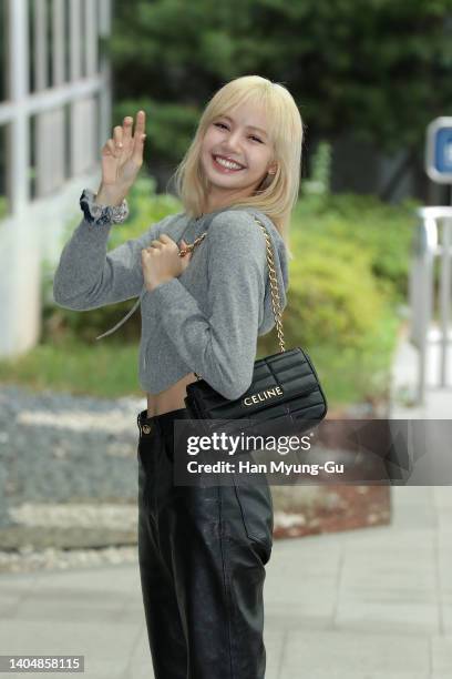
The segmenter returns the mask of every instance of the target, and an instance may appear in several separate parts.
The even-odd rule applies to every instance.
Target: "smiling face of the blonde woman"
[[[251,195],[267,172],[276,172],[273,158],[264,111],[244,103],[214,118],[201,146],[201,163],[209,186],[204,212]]]

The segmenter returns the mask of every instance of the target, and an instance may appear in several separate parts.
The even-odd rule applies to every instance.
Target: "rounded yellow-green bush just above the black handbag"
[[[282,317],[286,345],[357,349],[378,332],[389,292],[372,275],[366,250],[325,235],[312,241],[306,237],[290,262],[289,302]],[[268,348],[271,340],[265,335],[259,342]]]

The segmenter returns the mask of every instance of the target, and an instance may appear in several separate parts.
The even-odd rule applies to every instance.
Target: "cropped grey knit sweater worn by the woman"
[[[198,220],[185,213],[166,216],[109,252],[112,224],[90,224],[83,219],[61,253],[54,301],[65,308],[88,311],[140,297],[135,306],[141,305],[142,316],[138,378],[143,391],[158,394],[194,371],[225,398],[238,398],[251,384],[257,336],[275,325],[266,240],[253,214],[271,237],[284,308],[286,245],[266,214],[244,206],[217,210]],[[162,233],[179,244],[182,237],[193,243],[204,231],[207,236],[182,275],[147,291],[142,249]],[[276,353],[276,330],[274,335]]]

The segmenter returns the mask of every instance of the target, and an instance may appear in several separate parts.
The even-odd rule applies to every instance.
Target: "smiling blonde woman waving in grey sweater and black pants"
[[[107,253],[143,162],[144,111],[134,134],[132,123],[125,118],[103,146],[100,190],[82,194],[84,217],[61,254],[54,298],[84,311],[140,295],[147,411],[137,416],[138,559],[156,679],[260,679],[268,484],[176,486],[173,425],[189,418],[184,398],[196,375],[226,398],[242,396],[257,337],[275,325],[266,240],[254,215],[270,234],[286,306],[301,118],[278,83],[247,75],[224,85],[176,171],[184,212]]]

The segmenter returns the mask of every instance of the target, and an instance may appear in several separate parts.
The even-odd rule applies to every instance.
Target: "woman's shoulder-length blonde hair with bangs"
[[[186,214],[199,215],[208,194],[207,180],[201,164],[204,135],[214,119],[245,102],[264,109],[274,149],[271,160],[277,162],[277,171],[267,174],[253,195],[236,199],[234,206],[254,206],[264,212],[281,234],[289,257],[294,259],[288,236],[290,215],[300,185],[304,124],[292,95],[282,84],[260,75],[243,75],[220,88],[207,103],[195,136],[171,180],[174,179],[177,196]]]

